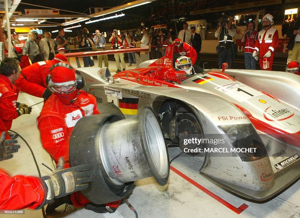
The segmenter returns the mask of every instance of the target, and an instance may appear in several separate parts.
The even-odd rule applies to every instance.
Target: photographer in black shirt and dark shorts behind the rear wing
[[[82,52],[92,51],[93,40],[91,40],[91,34],[89,34],[87,28],[83,28],[81,37],[79,37],[79,49]],[[92,56],[82,57],[84,67],[94,66],[94,60]]]

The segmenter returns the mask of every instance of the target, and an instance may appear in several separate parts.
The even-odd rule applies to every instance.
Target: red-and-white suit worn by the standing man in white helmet
[[[259,56],[263,57],[268,51],[271,52],[271,57],[269,58],[269,68],[263,69],[262,61],[263,58],[259,58],[259,64],[261,70],[272,70],[273,59],[275,55],[275,49],[278,47],[279,37],[278,31],[274,27],[271,27],[267,31],[265,29],[259,31],[258,40],[255,43],[256,51],[259,51]]]

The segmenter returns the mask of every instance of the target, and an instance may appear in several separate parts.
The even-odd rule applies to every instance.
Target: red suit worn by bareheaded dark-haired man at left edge
[[[16,111],[16,100],[19,95],[19,88],[16,88],[7,76],[0,75],[0,132],[11,128],[13,119],[19,117]],[[10,139],[6,134],[5,139]]]

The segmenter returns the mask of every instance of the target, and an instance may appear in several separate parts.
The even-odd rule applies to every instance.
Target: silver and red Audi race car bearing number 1
[[[200,172],[232,192],[262,201],[297,180],[298,110],[220,70],[188,75],[189,61],[179,57],[170,45],[163,58],[114,76],[107,68],[77,70],[98,103],[114,103],[127,118],[150,108],[168,145],[197,154]]]

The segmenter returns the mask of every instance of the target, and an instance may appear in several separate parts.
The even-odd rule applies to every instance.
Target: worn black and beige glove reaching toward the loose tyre
[[[63,163],[60,164],[63,166]],[[49,176],[42,177],[47,193],[45,193],[45,204],[50,203],[54,198],[61,198],[74,192],[84,190],[91,181],[91,172],[88,164],[56,170]]]

